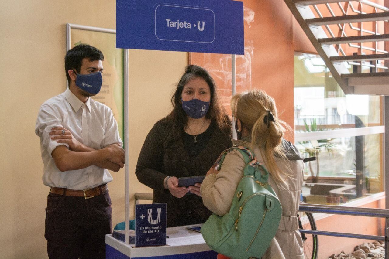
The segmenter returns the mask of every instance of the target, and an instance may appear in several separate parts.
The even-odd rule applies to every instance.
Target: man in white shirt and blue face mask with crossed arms
[[[111,233],[107,183],[124,166],[123,142],[112,111],[93,100],[102,87],[102,52],[78,45],[65,56],[69,88],[44,102],[40,137],[47,196],[45,238],[49,258],[105,258]]]

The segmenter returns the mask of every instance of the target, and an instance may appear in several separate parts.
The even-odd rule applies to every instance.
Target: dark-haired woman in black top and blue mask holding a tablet
[[[200,66],[186,66],[172,105],[147,135],[135,174],[154,190],[153,203],[166,203],[167,227],[204,223],[212,212],[203,205],[201,184],[178,187],[178,178],[207,173],[231,147],[231,124],[214,80]]]

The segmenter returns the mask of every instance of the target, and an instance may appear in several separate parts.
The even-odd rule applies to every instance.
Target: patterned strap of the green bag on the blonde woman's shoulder
[[[240,154],[242,154],[246,164],[243,170],[243,174],[254,175],[254,177],[259,181],[267,183],[269,179],[269,172],[262,165],[262,163],[258,162],[255,154],[253,154],[248,147],[233,146],[230,149],[226,149],[225,151],[223,151],[215,163],[215,165],[217,165],[216,170],[219,171],[221,169],[221,165],[223,164],[226,155],[235,149],[237,149],[240,152]]]

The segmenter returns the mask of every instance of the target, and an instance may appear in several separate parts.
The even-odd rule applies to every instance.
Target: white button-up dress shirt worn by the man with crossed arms
[[[93,149],[102,149],[114,143],[123,146],[112,110],[92,98],[82,103],[68,88],[40,106],[35,125],[44,164],[44,185],[83,190],[112,181],[107,169],[95,165],[65,172],[57,168],[51,152],[59,145],[69,148],[67,143],[51,139],[51,128],[58,126],[70,130],[79,142]]]

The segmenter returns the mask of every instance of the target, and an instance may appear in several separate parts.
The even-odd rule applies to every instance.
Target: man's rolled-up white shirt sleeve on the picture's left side
[[[50,105],[42,105],[39,109],[37,122],[35,124],[35,134],[40,138],[40,142],[43,147],[47,150],[49,156],[51,157],[51,152],[53,152],[56,147],[60,145],[65,145],[69,148],[67,143],[58,143],[56,140],[52,140],[49,133],[52,131],[53,127],[62,127],[62,119],[60,118],[60,113],[55,107]]]

